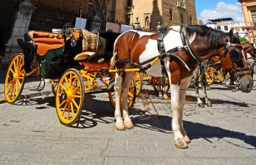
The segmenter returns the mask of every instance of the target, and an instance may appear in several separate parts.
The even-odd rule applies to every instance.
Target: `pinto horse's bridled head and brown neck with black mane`
[[[187,36],[193,51],[201,60],[218,56],[224,68],[232,73],[232,77],[243,92],[252,91],[253,80],[245,60],[239,38],[233,32],[221,32],[206,26],[187,26]]]

